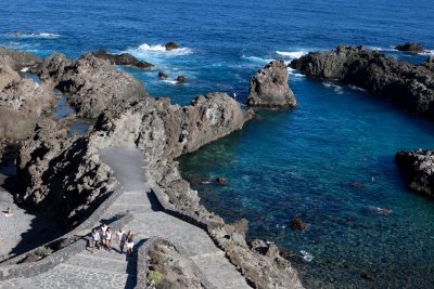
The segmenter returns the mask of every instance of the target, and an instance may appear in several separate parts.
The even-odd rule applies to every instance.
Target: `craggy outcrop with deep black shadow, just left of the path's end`
[[[22,144],[20,199],[64,226],[79,224],[111,195],[112,171],[98,154],[97,136],[66,139],[66,130],[46,120]]]

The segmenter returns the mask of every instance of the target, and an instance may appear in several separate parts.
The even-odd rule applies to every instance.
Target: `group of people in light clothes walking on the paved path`
[[[132,255],[132,247],[135,246],[133,234],[131,231],[128,231],[128,233],[125,233],[123,227],[119,227],[118,231],[116,231],[115,235],[113,236],[113,228],[107,226],[106,224],[103,224],[101,228],[92,229],[92,240],[91,240],[91,248],[92,248],[92,253],[94,248],[100,250],[101,246],[107,250],[112,250],[112,239],[115,237],[117,245],[119,246],[119,253],[124,253],[124,248],[125,245],[127,245],[127,255],[131,257]]]

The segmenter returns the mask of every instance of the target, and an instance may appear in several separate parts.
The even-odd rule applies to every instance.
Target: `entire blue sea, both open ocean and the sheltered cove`
[[[417,41],[433,54],[433,15],[429,0],[8,0],[0,45],[41,56],[129,52],[156,65],[119,68],[154,96],[184,105],[224,91],[243,102],[250,77],[273,58],[362,44],[420,63],[426,55],[393,48]],[[168,41],[181,49],[164,51]],[[294,70],[290,87],[296,108],[257,111],[244,130],[180,159],[203,203],[292,251],[307,288],[434,288],[434,200],[409,192],[394,162],[399,149],[434,148],[433,122]],[[217,176],[229,184],[196,182]],[[308,228],[292,231],[294,216]]]

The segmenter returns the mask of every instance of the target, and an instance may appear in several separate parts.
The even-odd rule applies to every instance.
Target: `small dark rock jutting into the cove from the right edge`
[[[434,150],[398,152],[395,160],[410,189],[434,197]]]

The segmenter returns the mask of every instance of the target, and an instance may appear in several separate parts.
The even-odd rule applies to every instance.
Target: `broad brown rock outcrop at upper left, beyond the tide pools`
[[[39,71],[65,93],[78,117],[97,118],[111,105],[123,103],[128,106],[149,96],[140,80],[91,53],[73,62],[61,54],[52,55]]]

